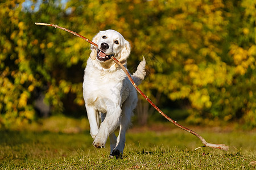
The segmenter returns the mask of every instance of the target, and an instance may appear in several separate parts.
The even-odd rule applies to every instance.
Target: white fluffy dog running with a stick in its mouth
[[[83,83],[90,134],[97,148],[105,147],[109,136],[110,156],[121,158],[125,133],[138,99],[135,88],[111,57],[114,56],[126,67],[131,48],[129,42],[112,29],[100,31],[92,41],[98,44],[100,50],[91,46]],[[145,65],[146,61],[141,61],[137,71],[131,75],[136,84],[140,84],[146,75]],[[118,126],[119,135],[116,137],[114,130]]]

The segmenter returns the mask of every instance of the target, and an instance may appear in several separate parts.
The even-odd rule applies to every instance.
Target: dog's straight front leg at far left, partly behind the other
[[[98,134],[98,128],[100,126],[100,118],[98,112],[94,109],[94,107],[90,105],[85,105],[85,107],[90,124],[90,135],[93,139],[95,139],[96,135]]]

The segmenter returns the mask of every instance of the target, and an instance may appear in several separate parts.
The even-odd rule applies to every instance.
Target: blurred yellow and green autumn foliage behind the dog
[[[34,24],[42,22],[89,39],[100,30],[120,32],[132,47],[128,68],[135,71],[146,58],[148,74],[140,88],[170,117],[254,128],[255,8],[254,0],[3,0],[0,126],[18,127],[59,113],[86,114],[82,79],[90,45]],[[154,118],[144,100],[137,110],[141,124]]]

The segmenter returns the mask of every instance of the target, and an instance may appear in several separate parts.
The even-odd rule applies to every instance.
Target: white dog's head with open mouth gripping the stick
[[[121,63],[126,63],[131,47],[121,33],[112,29],[100,31],[93,37],[92,41],[98,44],[98,49],[100,50],[91,46],[92,53],[90,53],[90,58],[96,60],[103,67],[111,67],[114,64],[111,59],[112,56],[117,58]]]

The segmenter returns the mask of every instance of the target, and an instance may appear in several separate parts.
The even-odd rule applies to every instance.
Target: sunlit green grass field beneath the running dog
[[[0,131],[0,169],[256,169],[255,131],[194,130],[230,150],[195,151],[201,141],[171,124],[130,129],[118,160],[109,158],[109,141],[94,148],[88,130]]]

